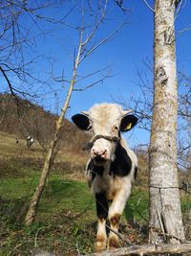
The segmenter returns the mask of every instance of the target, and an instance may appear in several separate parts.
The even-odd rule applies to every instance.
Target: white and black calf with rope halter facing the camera
[[[132,181],[138,171],[138,158],[131,151],[121,132],[137,125],[138,118],[116,104],[93,105],[88,112],[75,114],[77,128],[92,136],[86,150],[90,150],[86,176],[96,198],[96,251],[118,246],[117,234],[110,231],[107,239],[106,220],[118,232],[119,221],[131,193]]]

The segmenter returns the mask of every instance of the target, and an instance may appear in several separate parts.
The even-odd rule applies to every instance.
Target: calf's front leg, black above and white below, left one
[[[105,193],[96,194],[96,215],[97,215],[97,232],[96,232],[96,251],[102,251],[106,248],[107,234],[105,222],[108,216],[108,201]]]

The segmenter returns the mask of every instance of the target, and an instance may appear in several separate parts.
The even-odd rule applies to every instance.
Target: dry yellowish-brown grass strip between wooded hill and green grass
[[[64,175],[73,180],[84,180],[84,170],[88,155],[83,151],[67,151],[60,149],[54,160],[52,173]],[[38,142],[27,149],[26,141],[19,138],[16,144],[15,136],[0,132],[0,176],[20,176],[20,170],[31,169],[38,172],[44,163],[44,153]]]

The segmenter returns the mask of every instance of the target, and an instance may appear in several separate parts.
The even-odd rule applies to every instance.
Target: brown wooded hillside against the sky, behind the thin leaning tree
[[[14,134],[18,138],[32,135],[46,150],[53,136],[57,116],[46,111],[40,105],[11,94],[0,94],[0,131]],[[67,119],[64,120],[60,144],[68,150],[79,151],[87,142],[87,134],[74,127]]]

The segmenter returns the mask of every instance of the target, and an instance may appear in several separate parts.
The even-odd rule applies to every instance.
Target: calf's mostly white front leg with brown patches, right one
[[[125,207],[126,201],[129,198],[130,191],[120,190],[117,192],[116,197],[113,199],[113,202],[109,209],[109,220],[110,226],[112,229],[118,232],[120,218]],[[118,247],[118,237],[117,235],[110,231],[108,239],[108,248],[117,248]]]

